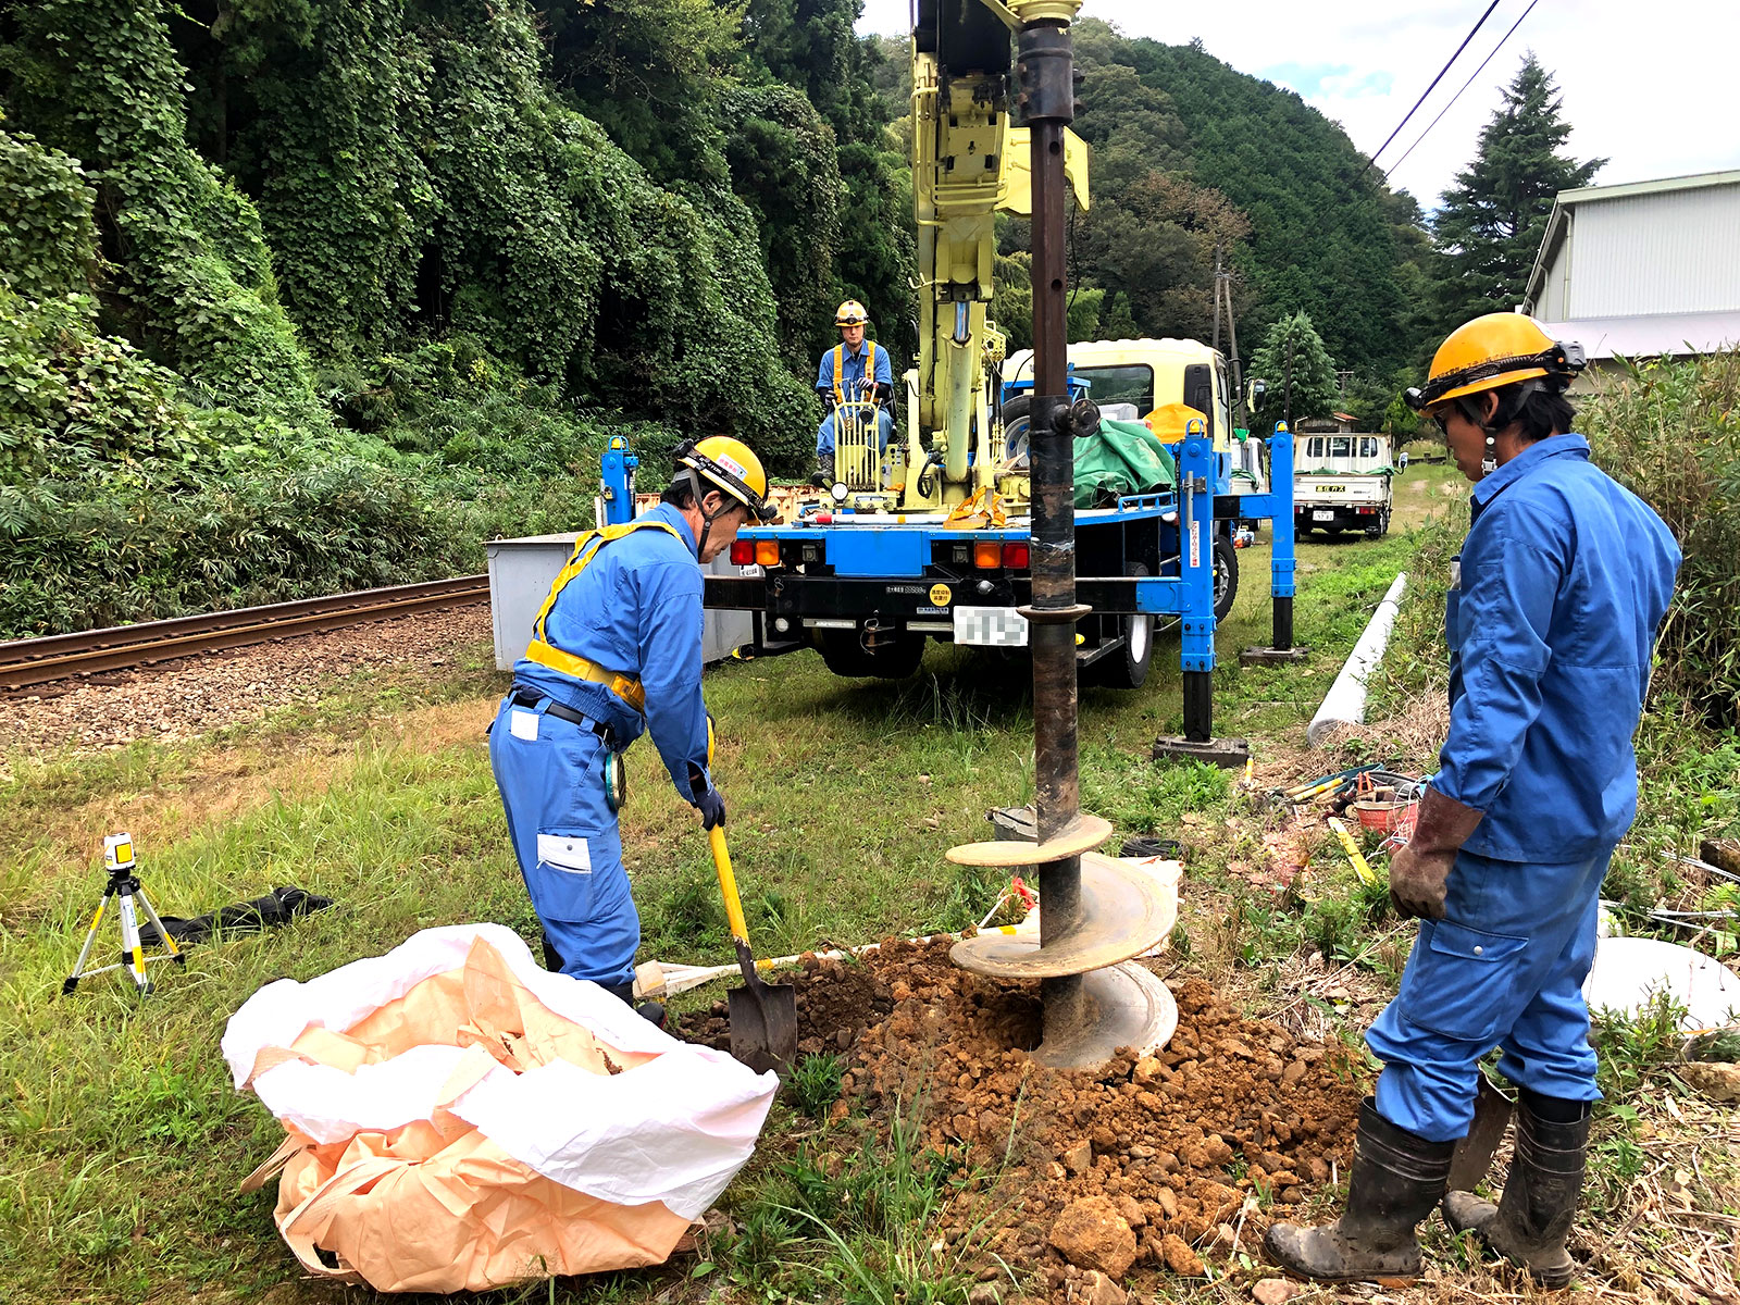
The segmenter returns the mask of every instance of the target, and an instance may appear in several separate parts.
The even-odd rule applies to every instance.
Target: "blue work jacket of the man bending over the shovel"
[[[701,566],[682,512],[661,503],[637,520],[647,519],[668,522],[679,538],[644,529],[612,539],[562,588],[545,618],[548,642],[639,679],[646,715],[602,684],[527,658],[513,663],[513,679],[611,726],[621,746],[651,733],[677,792],[693,800],[689,767],[706,774]]]

